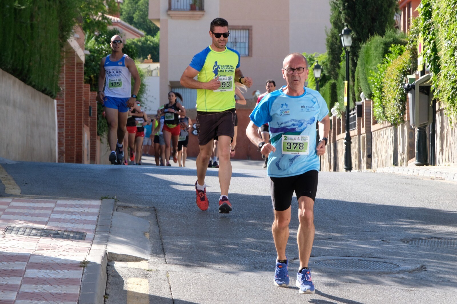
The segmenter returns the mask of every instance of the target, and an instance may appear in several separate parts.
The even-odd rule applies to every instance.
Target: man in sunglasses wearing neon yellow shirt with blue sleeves
[[[228,22],[222,18],[211,21],[209,36],[212,43],[192,58],[181,76],[181,85],[197,89],[197,131],[200,153],[197,157],[196,203],[201,210],[208,209],[205,176],[213,151],[213,140],[219,141],[219,213],[229,213],[228,188],[232,177],[230,143],[235,126],[235,81],[248,88],[250,77],[244,77],[239,68],[239,52],[228,48]],[[197,80],[194,77],[197,76]]]

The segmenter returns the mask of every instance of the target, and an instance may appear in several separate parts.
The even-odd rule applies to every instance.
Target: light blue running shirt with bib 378
[[[268,156],[267,174],[271,177],[319,171],[316,123],[329,114],[318,91],[305,87],[304,94],[289,96],[284,94],[285,88],[266,94],[249,116],[256,126],[270,125],[271,144],[276,148]]]

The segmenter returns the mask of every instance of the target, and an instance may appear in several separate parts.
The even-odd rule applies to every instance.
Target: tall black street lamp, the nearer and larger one
[[[344,138],[345,151],[344,151],[344,168],[346,171],[352,171],[352,157],[351,157],[351,133],[349,132],[349,49],[352,44],[351,29],[345,25],[345,28],[340,34],[341,43],[346,50],[346,83],[345,88],[345,104],[346,104],[346,136]]]

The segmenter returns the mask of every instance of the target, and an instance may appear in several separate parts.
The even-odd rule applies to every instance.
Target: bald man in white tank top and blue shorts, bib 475
[[[97,100],[104,104],[108,122],[108,143],[111,149],[108,159],[112,164],[122,164],[122,141],[126,132],[128,108],[135,104],[141,81],[133,59],[122,53],[121,36],[113,36],[110,46],[111,55],[102,58],[100,63]],[[135,81],[133,90],[132,77]]]

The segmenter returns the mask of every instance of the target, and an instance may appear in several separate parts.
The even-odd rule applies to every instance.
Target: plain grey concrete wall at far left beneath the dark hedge
[[[0,157],[56,162],[54,100],[0,69]]]

